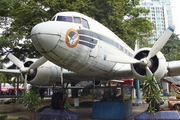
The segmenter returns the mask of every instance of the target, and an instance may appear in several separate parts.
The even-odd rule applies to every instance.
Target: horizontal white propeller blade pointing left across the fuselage
[[[130,56],[118,56],[118,55],[105,55],[104,60],[111,61],[111,62],[117,62],[117,63],[140,63],[139,60],[136,60]]]

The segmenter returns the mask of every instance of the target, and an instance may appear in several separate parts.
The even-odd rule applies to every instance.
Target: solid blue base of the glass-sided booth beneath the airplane
[[[94,119],[125,120],[132,115],[132,101],[94,102],[92,117]]]

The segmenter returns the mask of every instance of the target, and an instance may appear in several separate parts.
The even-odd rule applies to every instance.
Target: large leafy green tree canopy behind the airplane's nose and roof
[[[4,27],[0,37],[0,55],[10,51],[20,60],[39,57],[31,44],[31,29],[61,11],[78,11],[96,19],[134,48],[135,40],[144,43],[146,39],[141,38],[149,37],[153,29],[147,18],[138,17],[149,12],[138,5],[139,0],[3,0],[0,5]]]

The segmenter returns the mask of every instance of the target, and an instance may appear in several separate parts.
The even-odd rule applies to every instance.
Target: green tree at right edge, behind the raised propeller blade
[[[166,57],[167,61],[180,59],[179,46],[180,46],[180,39],[178,35],[173,33],[169,38],[169,41],[161,50],[161,52]]]

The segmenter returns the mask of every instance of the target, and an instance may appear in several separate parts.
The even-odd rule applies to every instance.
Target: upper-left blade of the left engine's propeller
[[[8,52],[6,54],[6,57],[8,57],[11,60],[11,62],[13,62],[19,68],[23,68],[24,67],[23,62],[21,62],[16,56],[11,54],[10,52]]]

